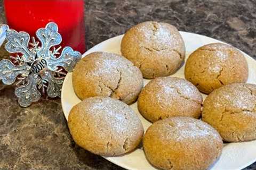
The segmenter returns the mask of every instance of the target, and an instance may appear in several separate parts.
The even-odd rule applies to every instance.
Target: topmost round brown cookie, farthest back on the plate
[[[179,69],[185,58],[185,45],[173,25],[148,21],[125,33],[121,52],[140,68],[144,78],[153,79]]]

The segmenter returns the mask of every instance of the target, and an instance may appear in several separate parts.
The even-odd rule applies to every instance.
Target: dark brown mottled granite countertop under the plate
[[[256,1],[86,0],[87,49],[142,21],[163,21],[181,31],[225,41],[256,59]],[[0,23],[5,23],[0,0]],[[123,169],[78,147],[60,99],[21,108],[13,87],[0,92],[0,169]],[[246,169],[256,169],[256,163]]]

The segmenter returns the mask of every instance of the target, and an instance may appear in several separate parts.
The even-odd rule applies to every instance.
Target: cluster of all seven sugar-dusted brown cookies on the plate
[[[122,55],[94,52],[72,75],[81,103],[68,117],[77,145],[93,154],[119,156],[142,141],[160,169],[207,169],[223,141],[256,139],[256,85],[236,48],[208,44],[186,62],[185,78],[171,77],[185,61],[185,44],[173,25],[143,22],[128,30]],[[152,79],[143,87],[143,78]],[[203,101],[202,93],[209,94]],[[145,132],[129,106],[153,123]],[[202,118],[202,120],[200,120]]]

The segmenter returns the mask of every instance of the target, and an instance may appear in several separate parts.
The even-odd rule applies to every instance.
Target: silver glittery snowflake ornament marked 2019
[[[4,25],[3,27],[7,27]],[[4,84],[15,83],[15,95],[22,107],[38,101],[43,94],[60,97],[61,87],[67,72],[74,69],[81,54],[71,47],[59,50],[61,43],[58,26],[50,22],[36,31],[36,41],[27,32],[6,30],[5,49],[11,53],[11,60],[0,61],[0,80]]]

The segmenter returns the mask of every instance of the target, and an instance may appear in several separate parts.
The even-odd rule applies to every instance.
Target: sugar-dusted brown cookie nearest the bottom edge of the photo
[[[171,117],[151,125],[143,137],[149,162],[161,169],[207,169],[220,156],[222,140],[209,124]]]

